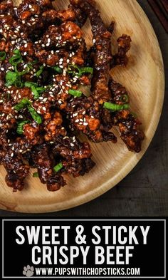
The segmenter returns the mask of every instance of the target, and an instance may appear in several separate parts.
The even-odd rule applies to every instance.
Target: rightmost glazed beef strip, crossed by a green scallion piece
[[[125,104],[129,102],[129,96],[125,87],[116,83],[112,79],[109,83],[112,93],[112,103]],[[127,100],[125,102],[125,99]],[[140,152],[142,141],[145,138],[144,133],[140,130],[140,120],[135,118],[130,110],[120,110],[112,113],[112,122],[120,129],[121,138],[127,145],[128,150]]]

